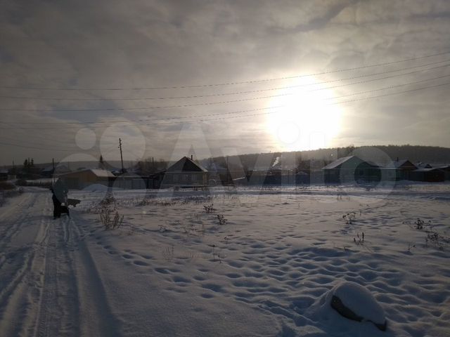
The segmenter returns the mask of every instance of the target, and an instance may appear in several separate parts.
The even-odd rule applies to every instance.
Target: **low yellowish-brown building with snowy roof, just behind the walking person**
[[[64,181],[68,188],[82,190],[84,187],[93,184],[111,186],[115,176],[113,173],[106,170],[84,169],[61,174],[60,178]]]

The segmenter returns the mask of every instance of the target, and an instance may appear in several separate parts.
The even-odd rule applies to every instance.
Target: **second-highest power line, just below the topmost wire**
[[[353,76],[353,77],[347,77],[344,79],[332,79],[332,80],[328,80],[328,81],[320,81],[320,82],[315,82],[315,83],[311,83],[311,84],[297,84],[297,85],[293,85],[293,86],[279,86],[279,87],[275,87],[275,88],[266,88],[266,89],[258,89],[258,90],[250,90],[250,91],[235,91],[233,93],[212,93],[212,94],[207,94],[207,95],[184,95],[184,96],[168,96],[168,97],[143,97],[143,98],[51,98],[51,97],[36,97],[36,96],[11,96],[11,95],[2,95],[0,96],[0,98],[6,98],[6,99],[26,99],[26,100],[56,100],[56,101],[60,101],[60,100],[72,100],[72,101],[94,101],[94,102],[98,102],[98,101],[115,101],[115,100],[175,100],[175,99],[187,99],[187,98],[206,98],[206,97],[217,97],[217,96],[226,96],[226,95],[243,95],[243,94],[247,94],[247,93],[261,93],[261,92],[265,92],[265,91],[276,91],[276,90],[283,90],[283,89],[288,89],[288,88],[300,88],[300,87],[304,87],[304,86],[316,86],[316,85],[320,85],[320,84],[329,84],[329,83],[333,83],[333,82],[337,82],[337,81],[347,81],[347,80],[352,80],[352,79],[361,79],[364,77],[373,77],[373,76],[378,76],[378,75],[382,75],[382,74],[390,74],[392,72],[401,72],[404,70],[410,70],[410,69],[416,69],[416,68],[421,68],[421,67],[428,67],[430,65],[437,65],[439,63],[443,63],[443,62],[449,62],[450,60],[444,60],[444,61],[437,61],[437,62],[431,62],[431,63],[427,63],[425,65],[416,65],[413,67],[404,67],[404,68],[400,68],[400,69],[395,69],[395,70],[387,70],[385,72],[376,72],[373,74],[363,74],[363,75],[359,75],[359,76]],[[438,68],[442,68],[442,67],[448,67],[450,65],[450,63],[447,63],[446,65],[440,65],[437,67],[431,67],[431,68],[426,68],[423,70],[416,70],[414,72],[406,72],[404,74],[395,74],[392,75],[391,77],[382,77],[380,79],[388,79],[388,78],[392,78],[392,77],[400,77],[400,76],[404,76],[407,74],[414,74],[417,72],[425,72],[428,70],[435,70]],[[367,81],[378,81],[380,79],[368,79]],[[356,84],[359,83],[364,83],[364,82],[356,82]],[[352,85],[352,84],[343,84],[343,86],[347,86],[347,85]],[[334,88],[334,87],[332,87]],[[326,88],[321,88],[319,90],[323,90]]]

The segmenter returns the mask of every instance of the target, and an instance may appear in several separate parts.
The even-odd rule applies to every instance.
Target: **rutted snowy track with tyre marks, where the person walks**
[[[115,336],[85,234],[52,209],[41,190],[1,209],[1,336]]]

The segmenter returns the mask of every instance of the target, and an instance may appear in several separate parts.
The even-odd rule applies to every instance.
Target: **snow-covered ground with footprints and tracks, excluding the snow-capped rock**
[[[0,207],[1,336],[450,336],[450,185],[106,196],[71,190],[58,220],[38,187]],[[387,331],[330,308],[344,281]]]

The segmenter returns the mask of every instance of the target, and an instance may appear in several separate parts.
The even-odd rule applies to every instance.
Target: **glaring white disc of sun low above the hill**
[[[327,147],[340,132],[341,107],[332,104],[333,91],[316,83],[312,77],[296,79],[269,103],[277,108],[267,114],[266,128],[280,150]]]

